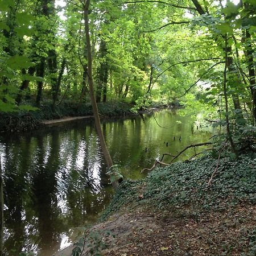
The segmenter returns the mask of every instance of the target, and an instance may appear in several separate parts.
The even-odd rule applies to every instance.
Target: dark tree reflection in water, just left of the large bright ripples
[[[36,138],[38,141],[36,170],[32,177],[33,209],[38,218],[39,247],[49,249],[59,240],[59,214],[57,208],[57,180],[56,172],[59,168],[59,133],[52,133],[49,143],[48,159],[46,160],[46,148],[43,137]]]

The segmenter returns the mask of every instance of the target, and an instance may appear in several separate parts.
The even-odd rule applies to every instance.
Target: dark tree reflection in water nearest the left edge
[[[24,220],[23,206],[28,203],[29,179],[27,156],[30,151],[30,137],[26,139],[18,138],[20,148],[13,144],[6,146],[5,155],[11,158],[6,161],[5,166],[5,225],[11,231],[11,235],[5,241],[5,248],[12,248],[14,255],[21,251],[26,245],[27,234],[25,230],[26,221]],[[15,243],[14,243],[15,241]]]

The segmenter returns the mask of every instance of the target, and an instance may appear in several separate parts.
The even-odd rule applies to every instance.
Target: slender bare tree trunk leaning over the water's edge
[[[100,139],[100,145],[101,145],[101,148],[102,148],[102,152],[103,152],[103,155],[104,155],[104,158],[106,160],[106,164],[107,164],[108,168],[111,168],[113,166],[113,162],[112,162],[112,158],[109,154],[108,147],[106,146],[104,135],[102,133],[101,121],[100,121],[100,117],[98,115],[98,107],[97,107],[96,98],[95,98],[94,89],[93,89],[92,49],[91,49],[91,46],[90,46],[90,31],[89,31],[89,18],[88,18],[89,4],[90,4],[90,1],[86,0],[85,5],[84,5],[84,27],[85,27],[85,38],[86,38],[86,47],[87,47],[86,50],[87,50],[87,65],[88,65],[88,82],[89,82],[90,102],[92,104],[96,130],[97,130],[98,137]],[[113,187],[117,187],[118,186],[118,181],[117,180],[113,181],[112,185],[113,185]]]

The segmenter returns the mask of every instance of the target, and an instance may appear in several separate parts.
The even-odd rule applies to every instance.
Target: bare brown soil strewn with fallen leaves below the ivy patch
[[[82,255],[250,255],[246,254],[250,241],[245,230],[256,231],[255,216],[255,205],[200,218],[154,209],[130,210],[90,229]],[[59,255],[71,255],[67,253]]]

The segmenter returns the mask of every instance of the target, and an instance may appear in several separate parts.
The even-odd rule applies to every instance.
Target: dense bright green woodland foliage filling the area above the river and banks
[[[128,101],[139,109],[152,101],[195,108],[200,101],[210,118],[252,131],[253,2],[92,1],[97,102]],[[84,6],[0,1],[2,112],[89,102]]]

